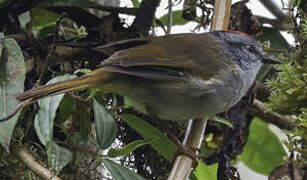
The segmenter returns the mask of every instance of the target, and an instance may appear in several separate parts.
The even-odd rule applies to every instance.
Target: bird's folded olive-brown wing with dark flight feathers
[[[116,52],[100,67],[105,71],[147,79],[184,80],[184,70],[174,57],[157,41],[150,39],[145,44]]]

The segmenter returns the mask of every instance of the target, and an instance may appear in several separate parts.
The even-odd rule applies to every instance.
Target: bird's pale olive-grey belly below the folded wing
[[[189,120],[221,113],[241,98],[240,83],[203,81],[192,77],[187,82],[156,84],[139,81],[133,89],[120,93],[136,110],[164,120]],[[227,83],[229,82],[227,80]],[[129,93],[127,93],[129,92]]]

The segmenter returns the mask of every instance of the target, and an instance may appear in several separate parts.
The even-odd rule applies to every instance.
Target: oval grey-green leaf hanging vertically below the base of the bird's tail
[[[108,148],[117,135],[117,126],[113,116],[96,99],[93,103],[96,137],[102,149]]]

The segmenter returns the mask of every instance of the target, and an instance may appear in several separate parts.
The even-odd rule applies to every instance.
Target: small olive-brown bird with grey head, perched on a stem
[[[129,98],[136,110],[162,120],[208,117],[235,105],[251,87],[266,55],[243,34],[215,31],[132,39],[98,69],[26,91],[20,101],[102,88]]]

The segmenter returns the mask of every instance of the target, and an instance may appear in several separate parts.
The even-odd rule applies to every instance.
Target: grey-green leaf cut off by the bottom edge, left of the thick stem
[[[111,160],[104,159],[102,162],[116,180],[145,180],[142,176]]]

